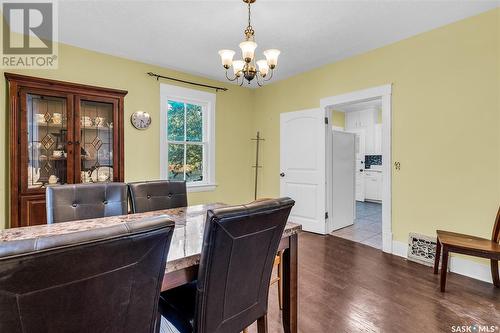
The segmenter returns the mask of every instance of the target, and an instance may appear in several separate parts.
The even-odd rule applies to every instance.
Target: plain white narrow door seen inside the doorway
[[[333,230],[354,223],[356,151],[355,134],[333,131],[332,139],[332,219]]]

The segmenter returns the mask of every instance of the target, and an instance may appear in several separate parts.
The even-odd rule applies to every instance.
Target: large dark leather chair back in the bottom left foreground
[[[155,332],[173,228],[159,216],[3,242],[0,332]]]

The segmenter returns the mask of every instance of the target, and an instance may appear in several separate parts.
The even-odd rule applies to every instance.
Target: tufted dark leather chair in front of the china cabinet
[[[47,223],[127,214],[125,183],[49,186],[45,192]]]

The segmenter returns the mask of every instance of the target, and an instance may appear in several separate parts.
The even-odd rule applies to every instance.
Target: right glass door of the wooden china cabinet
[[[112,182],[116,180],[113,167],[117,164],[113,131],[117,123],[116,101],[76,98],[75,131],[79,133],[77,156],[78,180],[81,183]]]

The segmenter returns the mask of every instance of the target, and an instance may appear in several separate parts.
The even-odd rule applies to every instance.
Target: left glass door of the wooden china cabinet
[[[21,184],[37,192],[47,186],[73,183],[72,110],[69,96],[26,91],[21,95]]]

